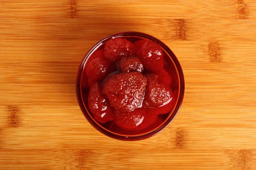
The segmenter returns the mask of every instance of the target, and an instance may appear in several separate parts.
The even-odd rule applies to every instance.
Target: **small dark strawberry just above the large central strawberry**
[[[121,57],[116,62],[116,69],[121,72],[143,72],[143,64],[136,56]]]

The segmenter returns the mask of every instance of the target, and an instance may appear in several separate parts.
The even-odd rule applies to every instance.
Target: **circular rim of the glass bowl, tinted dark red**
[[[166,52],[166,54],[169,55],[169,57],[171,58],[171,60],[173,62],[173,65],[175,66],[175,70],[177,71],[178,92],[177,92],[177,102],[175,104],[175,107],[174,107],[174,109],[172,109],[172,111],[171,111],[172,113],[169,113],[169,116],[167,117],[167,119],[161,125],[159,125],[158,127],[154,128],[153,130],[150,130],[146,133],[138,134],[138,135],[123,135],[123,134],[118,134],[118,133],[111,132],[110,130],[106,129],[105,127],[102,127],[101,124],[99,124],[96,120],[93,119],[93,116],[90,115],[89,108],[87,108],[83,103],[82,91],[81,91],[81,74],[82,74],[82,71],[84,69],[84,65],[85,65],[88,57],[90,57],[90,55],[100,45],[102,45],[103,43],[105,43],[106,41],[111,39],[112,37],[124,37],[124,38],[137,37],[137,38],[145,38],[145,39],[149,39],[149,40],[152,40],[154,42],[157,42],[159,45],[161,45],[161,47]],[[183,101],[184,90],[185,90],[185,82],[184,82],[183,71],[182,71],[180,63],[179,63],[177,57],[175,56],[175,54],[162,41],[158,40],[157,38],[155,38],[151,35],[141,33],[141,32],[122,32],[122,33],[118,33],[118,34],[113,34],[113,35],[110,35],[110,36],[104,38],[103,40],[99,41],[98,43],[96,43],[96,45],[94,45],[93,48],[91,48],[89,50],[89,52],[85,55],[84,59],[82,60],[80,66],[79,66],[78,72],[77,72],[77,77],[76,77],[76,96],[77,96],[78,103],[79,103],[79,106],[81,108],[81,111],[83,112],[87,121],[90,122],[90,124],[94,128],[96,128],[99,132],[105,134],[106,136],[109,136],[109,137],[114,138],[114,139],[124,140],[124,141],[136,141],[136,140],[147,139],[151,136],[156,135],[157,133],[160,133],[163,129],[165,129],[172,122],[172,120],[175,118],[178,111],[180,110],[180,106],[181,106],[182,101]]]

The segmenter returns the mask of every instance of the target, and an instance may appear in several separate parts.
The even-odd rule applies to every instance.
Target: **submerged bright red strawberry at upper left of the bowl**
[[[85,65],[89,85],[102,81],[114,70],[114,64],[104,57],[103,50],[95,51]]]

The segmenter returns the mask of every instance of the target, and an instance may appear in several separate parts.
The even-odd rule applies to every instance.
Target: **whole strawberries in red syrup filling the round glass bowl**
[[[82,103],[91,119],[108,132],[140,135],[172,116],[179,98],[179,74],[157,42],[139,36],[112,37],[99,43],[83,64]]]

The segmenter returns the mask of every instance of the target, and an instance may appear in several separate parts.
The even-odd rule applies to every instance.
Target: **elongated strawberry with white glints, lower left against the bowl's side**
[[[102,95],[99,82],[91,86],[88,94],[88,104],[97,121],[106,123],[114,119],[113,109],[108,100]]]

